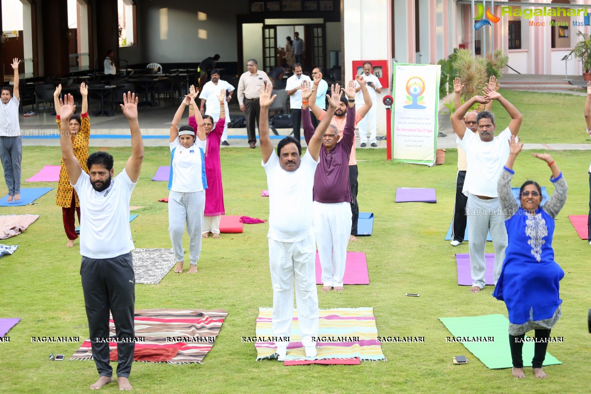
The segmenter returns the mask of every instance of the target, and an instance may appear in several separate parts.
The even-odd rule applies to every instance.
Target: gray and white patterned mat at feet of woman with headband
[[[176,263],[173,249],[134,250],[135,284],[157,285]]]

